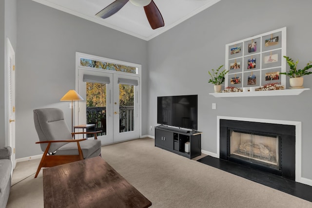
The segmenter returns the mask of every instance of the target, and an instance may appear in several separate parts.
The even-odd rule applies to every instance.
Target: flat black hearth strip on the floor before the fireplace
[[[206,156],[197,161],[312,202],[311,186],[212,156]]]

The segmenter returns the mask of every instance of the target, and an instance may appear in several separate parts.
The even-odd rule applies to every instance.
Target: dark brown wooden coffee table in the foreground
[[[45,208],[147,208],[152,203],[101,157],[43,170]]]

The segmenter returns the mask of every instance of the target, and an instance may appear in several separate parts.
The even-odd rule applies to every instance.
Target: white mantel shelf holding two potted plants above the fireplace
[[[267,90],[255,92],[236,92],[236,93],[209,93],[215,97],[252,97],[252,96],[278,96],[278,95],[299,95],[310,88],[288,89],[288,90]]]

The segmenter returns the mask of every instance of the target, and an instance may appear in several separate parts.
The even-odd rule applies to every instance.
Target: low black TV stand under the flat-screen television
[[[201,155],[201,133],[162,125],[156,126],[155,147],[192,159]],[[185,152],[186,142],[190,142],[190,152]]]

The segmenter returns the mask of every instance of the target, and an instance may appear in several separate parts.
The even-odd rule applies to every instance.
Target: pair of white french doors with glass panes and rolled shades
[[[102,145],[139,137],[138,76],[78,70],[78,124],[101,130]],[[89,131],[92,131],[90,128]]]

